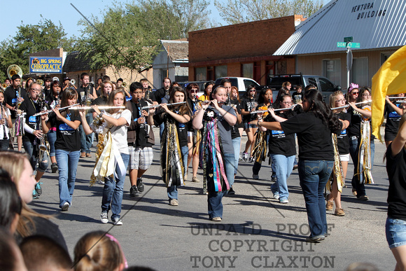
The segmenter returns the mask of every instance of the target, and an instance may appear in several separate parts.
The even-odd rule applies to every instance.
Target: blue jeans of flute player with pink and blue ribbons
[[[225,160],[225,174],[228,179],[228,183],[230,186],[234,183],[234,153],[224,153],[224,160]],[[209,175],[209,170],[207,171]],[[223,199],[224,195],[227,195],[228,190],[216,192],[214,189],[214,182],[213,177],[206,176],[207,178],[207,206],[209,209],[209,218],[214,217],[221,217],[223,218],[223,204],[221,200]]]

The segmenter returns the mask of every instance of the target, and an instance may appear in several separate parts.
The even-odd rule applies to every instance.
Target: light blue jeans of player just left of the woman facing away
[[[270,153],[275,165],[276,181],[272,183],[271,190],[275,195],[279,195],[279,200],[288,200],[288,178],[293,170],[295,155],[285,156],[281,154]]]

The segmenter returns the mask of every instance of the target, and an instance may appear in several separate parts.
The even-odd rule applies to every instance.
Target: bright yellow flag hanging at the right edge
[[[372,134],[380,141],[385,96],[406,92],[406,46],[391,55],[372,77]]]

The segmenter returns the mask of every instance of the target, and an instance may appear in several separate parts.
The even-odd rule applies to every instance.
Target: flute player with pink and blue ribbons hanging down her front
[[[226,106],[227,91],[218,86],[211,92],[211,106],[202,104],[202,109],[193,118],[193,128],[204,128],[200,161],[203,166],[203,190],[207,191],[209,219],[223,218],[222,199],[234,183],[234,149],[231,128],[237,123],[232,106]]]

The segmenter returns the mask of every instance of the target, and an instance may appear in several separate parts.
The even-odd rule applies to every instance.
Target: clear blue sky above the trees
[[[76,6],[87,18],[91,18],[91,15],[100,18],[101,12],[113,2],[114,0],[20,0],[16,4],[10,0],[1,0],[0,41],[15,36],[18,32],[17,27],[20,25],[36,25],[41,20],[40,15],[51,20],[55,25],[59,25],[60,21],[68,37],[80,36],[80,27],[77,24],[83,17],[73,6]],[[125,4],[128,0],[121,2]],[[214,0],[210,0],[209,10],[212,20],[216,18],[216,22],[225,25],[225,22],[219,19]]]

